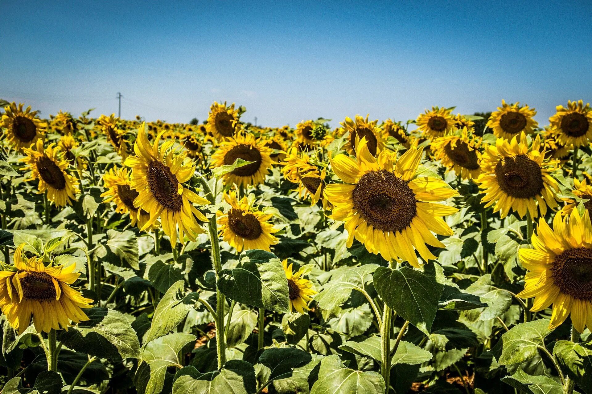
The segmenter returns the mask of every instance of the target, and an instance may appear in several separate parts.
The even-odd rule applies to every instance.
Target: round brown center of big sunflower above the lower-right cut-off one
[[[496,179],[504,193],[516,198],[533,198],[544,186],[540,166],[526,155],[502,158]]]

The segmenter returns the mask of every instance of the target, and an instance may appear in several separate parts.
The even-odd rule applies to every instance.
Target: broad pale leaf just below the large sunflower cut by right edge
[[[501,336],[503,347],[498,363],[514,365],[531,360],[538,354],[538,349],[545,347],[545,337],[552,331],[548,319],[514,325]]]

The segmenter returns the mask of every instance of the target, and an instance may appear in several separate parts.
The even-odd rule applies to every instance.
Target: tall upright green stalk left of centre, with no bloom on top
[[[216,196],[212,193],[210,185],[208,185],[205,178],[199,178],[201,187],[204,189],[205,197],[210,201],[210,204],[215,204]],[[208,233],[210,233],[210,242],[212,244],[212,264],[216,275],[216,283],[220,278],[220,271],[222,271],[222,258],[220,256],[220,243],[218,242],[218,224],[216,223],[216,216],[213,215],[208,222]],[[224,341],[224,294],[216,285],[216,351],[218,355],[218,369],[226,363],[226,341]]]

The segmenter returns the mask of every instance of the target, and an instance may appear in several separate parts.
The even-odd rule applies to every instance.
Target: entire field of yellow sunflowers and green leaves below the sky
[[[2,394],[592,393],[582,100],[545,126],[1,108]]]

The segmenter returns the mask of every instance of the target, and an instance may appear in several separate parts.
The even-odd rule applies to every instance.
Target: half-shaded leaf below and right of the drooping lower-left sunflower
[[[86,315],[89,320],[60,331],[60,341],[67,347],[99,359],[140,358],[136,331],[123,313],[95,307]]]

